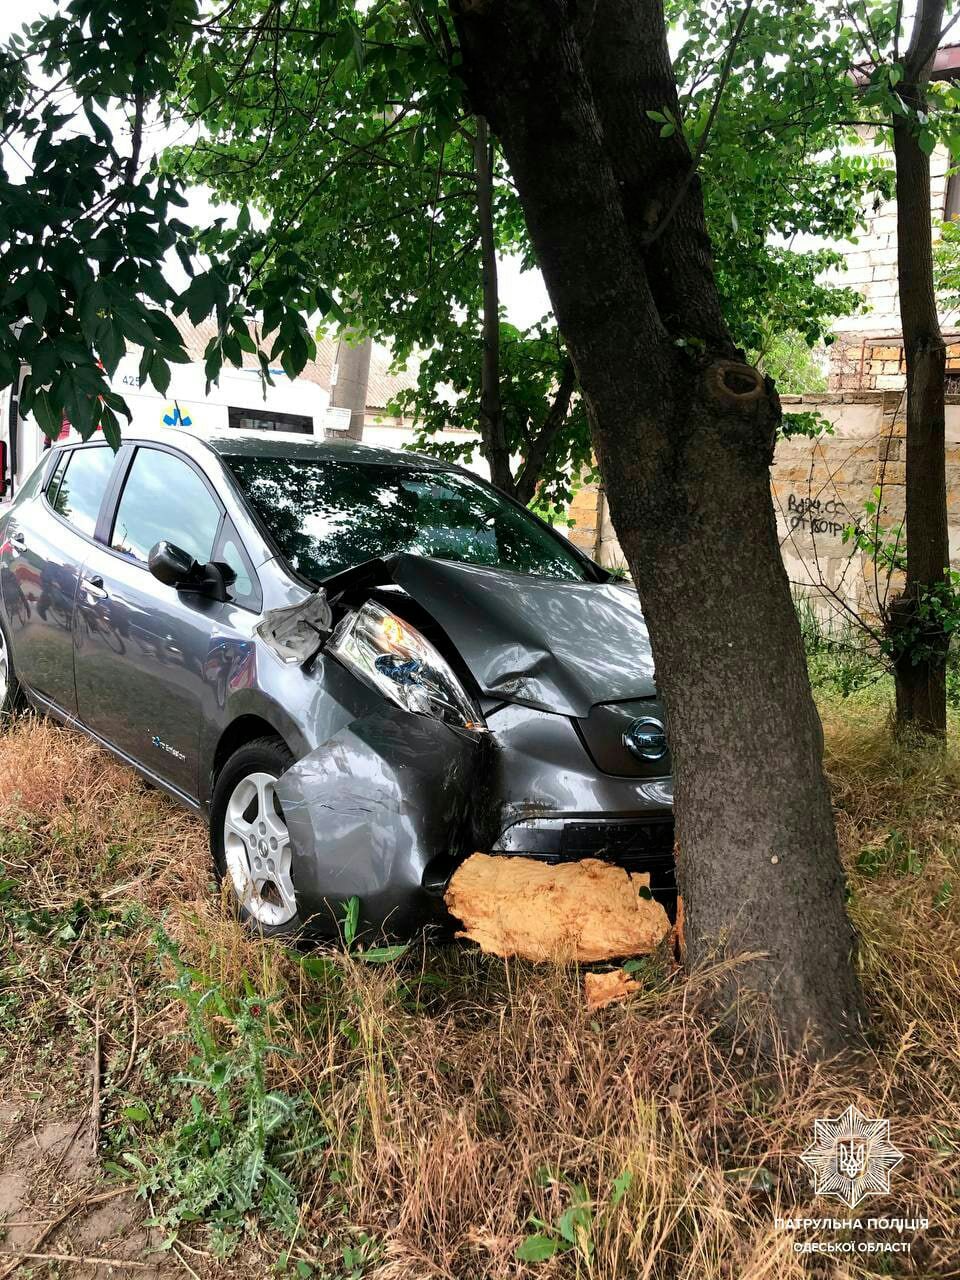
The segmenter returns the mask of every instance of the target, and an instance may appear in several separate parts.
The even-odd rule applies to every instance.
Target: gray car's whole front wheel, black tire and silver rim
[[[261,937],[289,937],[303,922],[293,851],[273,783],[293,763],[279,737],[239,748],[220,771],[210,804],[210,851],[243,924]]]

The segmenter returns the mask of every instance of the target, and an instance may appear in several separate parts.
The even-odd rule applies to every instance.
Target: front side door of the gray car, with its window
[[[77,599],[81,719],[132,760],[197,796],[201,719],[215,714],[216,653],[250,639],[251,614],[232,602],[178,593],[147,568],[161,539],[206,563],[223,548],[223,504],[175,449],[132,451],[105,545],[83,566]],[[238,628],[239,623],[239,628]]]

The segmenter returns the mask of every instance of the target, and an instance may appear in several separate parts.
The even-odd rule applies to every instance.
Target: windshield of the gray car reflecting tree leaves
[[[458,471],[302,457],[224,461],[289,564],[312,581],[394,552],[589,577],[561,535]]]

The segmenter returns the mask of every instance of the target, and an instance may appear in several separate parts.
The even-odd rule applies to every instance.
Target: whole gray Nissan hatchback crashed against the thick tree
[[[0,518],[0,710],[210,824],[264,933],[451,924],[476,850],[648,870],[669,754],[636,594],[468,471],[348,443],[58,445]]]

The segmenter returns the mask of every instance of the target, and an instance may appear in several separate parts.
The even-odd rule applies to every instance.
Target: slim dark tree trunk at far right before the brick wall
[[[924,86],[943,22],[943,0],[922,0],[905,58],[900,96],[925,109]],[[943,372],[946,351],[933,291],[931,237],[931,161],[916,125],[893,116],[897,184],[897,270],[900,320],[906,353],[906,585],[891,621],[901,648],[895,666],[897,728],[945,737],[948,636],[936,620],[918,616],[923,600],[941,586],[950,564]]]

